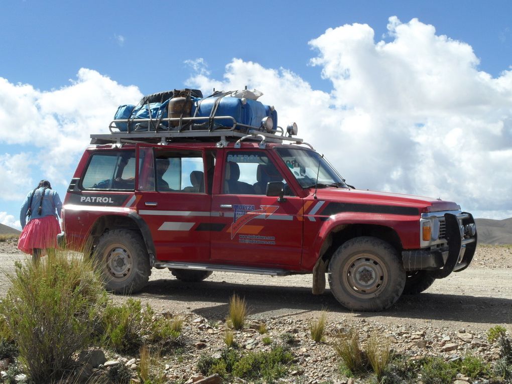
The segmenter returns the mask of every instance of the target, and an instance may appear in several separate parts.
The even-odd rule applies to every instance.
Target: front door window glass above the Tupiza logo
[[[283,176],[261,151],[231,151],[224,169],[224,194],[266,195],[267,183]],[[286,190],[287,188],[285,188]]]

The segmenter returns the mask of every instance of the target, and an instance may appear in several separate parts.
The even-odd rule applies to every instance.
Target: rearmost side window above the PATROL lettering
[[[135,189],[135,151],[97,153],[82,179],[83,189]]]

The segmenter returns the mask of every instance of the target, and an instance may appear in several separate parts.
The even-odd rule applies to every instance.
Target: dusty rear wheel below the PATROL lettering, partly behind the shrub
[[[135,231],[115,229],[105,232],[94,254],[108,291],[135,293],[150,278],[150,258],[140,234]]]

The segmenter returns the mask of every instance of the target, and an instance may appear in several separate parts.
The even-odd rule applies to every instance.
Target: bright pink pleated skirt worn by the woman
[[[55,216],[32,219],[19,236],[18,249],[32,254],[34,248],[57,248],[60,225]]]

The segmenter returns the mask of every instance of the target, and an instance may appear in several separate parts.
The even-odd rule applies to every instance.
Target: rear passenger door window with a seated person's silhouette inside
[[[155,151],[158,191],[204,193],[204,165],[199,151]]]

